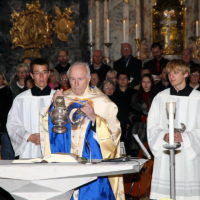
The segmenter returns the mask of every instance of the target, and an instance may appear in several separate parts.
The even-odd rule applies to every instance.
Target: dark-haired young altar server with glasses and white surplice
[[[47,85],[49,66],[45,60],[33,60],[30,71],[35,86],[14,99],[7,120],[15,156],[20,158],[41,157],[40,115],[50,105],[54,93]]]

